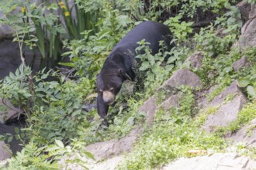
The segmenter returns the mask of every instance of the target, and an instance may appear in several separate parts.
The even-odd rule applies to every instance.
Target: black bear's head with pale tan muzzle
[[[121,70],[108,70],[97,75],[97,90],[106,104],[111,105],[115,102],[116,95],[122,87],[123,76],[120,76],[120,72]]]

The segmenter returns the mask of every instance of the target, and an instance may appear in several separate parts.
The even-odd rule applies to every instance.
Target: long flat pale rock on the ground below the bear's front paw
[[[141,134],[140,128],[134,129],[128,136],[121,139],[112,139],[110,141],[102,141],[88,145],[86,150],[91,152],[97,161],[102,158],[110,158],[123,152],[130,151],[133,143],[138,138],[138,134]]]

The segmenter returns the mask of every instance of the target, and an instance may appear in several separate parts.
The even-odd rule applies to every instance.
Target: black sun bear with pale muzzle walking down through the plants
[[[107,124],[106,114],[109,105],[113,104],[116,94],[122,87],[125,80],[134,80],[136,73],[133,70],[133,63],[136,56],[135,49],[139,46],[137,42],[145,39],[150,42],[152,54],[158,53],[161,48],[159,41],[164,41],[164,45],[170,50],[171,32],[168,26],[158,22],[141,22],[126,34],[112,49],[106,58],[102,70],[97,75],[97,110],[103,123]]]

